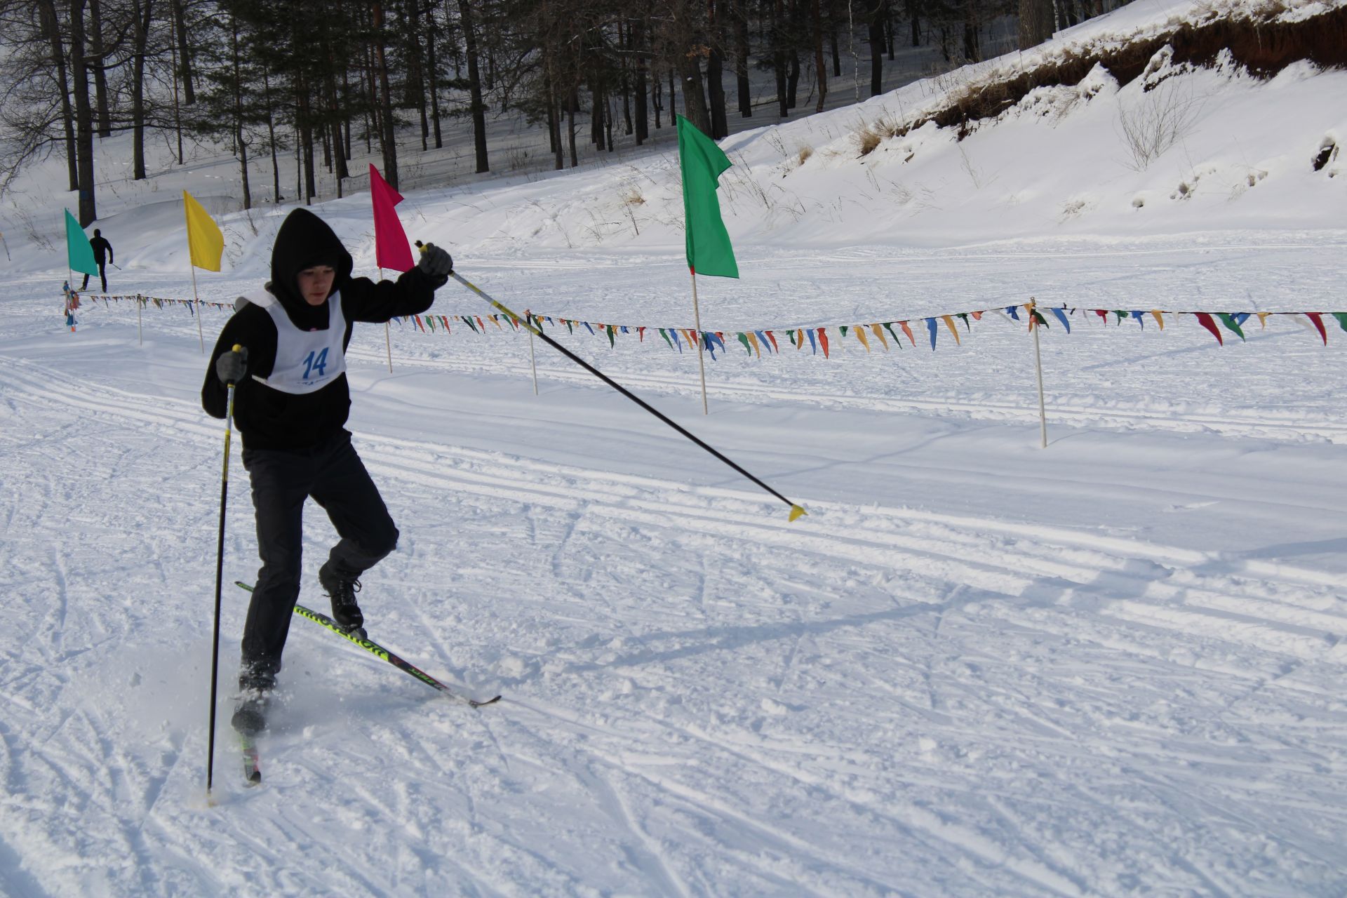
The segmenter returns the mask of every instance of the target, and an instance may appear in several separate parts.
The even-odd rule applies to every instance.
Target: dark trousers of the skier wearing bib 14
[[[245,438],[247,439],[247,438]],[[327,559],[354,579],[397,548],[397,528],[379,489],[341,431],[307,450],[244,448],[257,513],[261,568],[244,625],[244,672],[275,675],[299,599],[304,499],[327,512],[341,540]]]

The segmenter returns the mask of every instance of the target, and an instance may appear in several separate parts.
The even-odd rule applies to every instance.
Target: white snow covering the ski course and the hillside
[[[1137,0],[1059,43],[1191,12]],[[1118,110],[1146,96],[1106,78],[963,143],[924,129],[863,159],[858,123],[938,86],[735,135],[722,194],[742,277],[699,279],[703,324],[835,334],[1030,296],[1347,311],[1347,159],[1309,164],[1347,137],[1347,74],[1172,74],[1199,110],[1141,170]],[[43,171],[23,195],[54,190]],[[109,187],[113,293],[191,296],[172,198],[193,176],[160,175],[158,205]],[[730,338],[709,416],[696,358],[652,331],[609,347],[550,329],[806,505],[793,524],[540,343],[535,396],[524,335],[395,324],[389,372],[384,330],[357,329],[352,429],[403,533],[365,578],[370,634],[505,697],[446,701],[296,621],[247,788],[226,728],[247,603],[228,584],[257,567],[236,451],[207,806],[224,427],[199,408],[197,319],[151,306],[137,331],[133,304],[86,303],[63,327],[70,199],[51,195],[35,228],[54,250],[0,210],[0,893],[1347,891],[1332,318],[1327,346],[1293,316],[1224,346],[1191,316],[1053,322],[1047,450],[1033,339],[997,314],[936,351],[923,330],[828,358]],[[400,211],[516,308],[691,327],[678,197],[655,152],[409,193]],[[368,195],[318,211],[373,273]],[[228,265],[198,272],[203,299],[265,277],[283,214],[221,217]],[[434,311],[489,310],[450,284]],[[205,310],[207,343],[224,320]],[[331,539],[311,508],[319,609]]]

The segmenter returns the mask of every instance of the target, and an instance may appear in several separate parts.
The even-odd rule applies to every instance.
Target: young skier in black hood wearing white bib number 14
[[[331,598],[333,619],[348,631],[364,626],[356,602],[360,575],[397,545],[397,528],[345,429],[345,353],[354,322],[381,323],[430,308],[454,261],[427,244],[420,263],[396,281],[352,277],[352,267],[326,222],[306,209],[290,213],[272,246],[271,281],[236,303],[201,388],[202,407],[222,419],[225,384],[236,384],[234,423],[257,518],[261,568],[244,625],[238,728],[261,728],[280,670],[299,598],[304,499],[313,497],[341,536],[318,580]],[[260,705],[255,716],[244,714],[249,701]]]

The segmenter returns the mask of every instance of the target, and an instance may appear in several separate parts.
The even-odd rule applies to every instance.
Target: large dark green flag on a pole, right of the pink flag
[[[683,171],[683,218],[687,223],[687,267],[694,275],[738,277],[734,248],[721,221],[715,197],[721,172],[730,167],[725,152],[683,116],[678,117],[678,160]]]

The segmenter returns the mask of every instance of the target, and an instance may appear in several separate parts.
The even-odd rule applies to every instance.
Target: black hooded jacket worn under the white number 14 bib
[[[337,269],[333,292],[322,306],[310,306],[299,293],[298,275],[315,265]],[[280,300],[286,315],[300,330],[326,330],[327,303],[337,296],[346,319],[342,351],[350,343],[354,322],[383,323],[401,315],[419,315],[435,300],[431,279],[412,268],[396,281],[377,284],[368,277],[352,277],[350,253],[318,215],[296,209],[286,217],[271,250],[271,281],[267,289]],[[216,374],[216,359],[233,346],[248,349],[248,376],[234,385],[234,424],[248,448],[302,450],[321,443],[346,424],[350,389],[341,374],[315,393],[284,393],[260,381],[276,364],[276,324],[267,310],[245,304],[225,323],[206,366],[201,405],[211,417],[224,417],[228,390]]]

